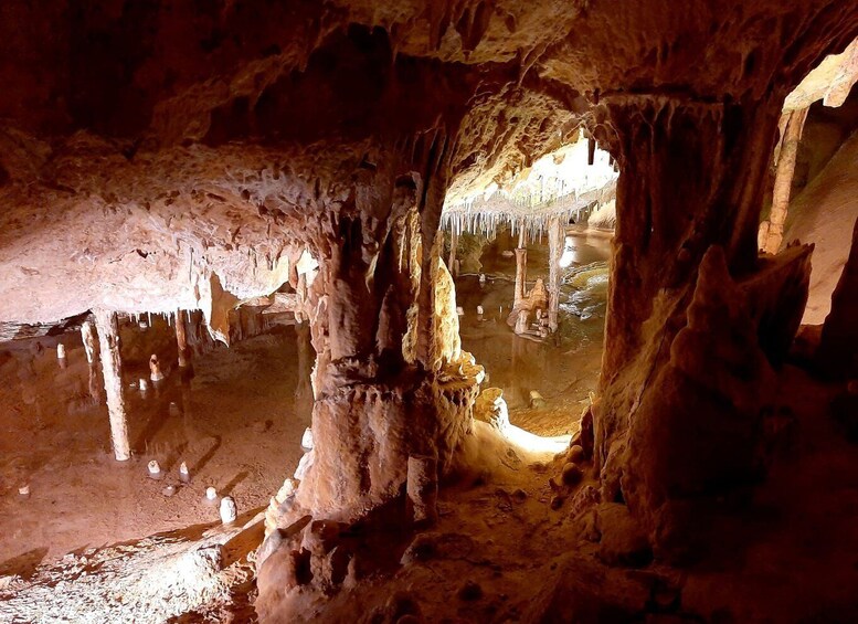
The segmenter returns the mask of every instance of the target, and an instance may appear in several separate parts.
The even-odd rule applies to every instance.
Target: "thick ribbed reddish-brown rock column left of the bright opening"
[[[331,207],[309,245],[319,262],[306,306],[315,445],[296,508],[340,521],[400,496],[410,456],[448,470],[476,394],[473,379],[442,381],[472,367],[455,343],[455,293],[435,239],[443,168],[424,181],[416,172],[425,163],[415,168],[388,146],[366,158],[374,168],[352,176],[364,203]]]

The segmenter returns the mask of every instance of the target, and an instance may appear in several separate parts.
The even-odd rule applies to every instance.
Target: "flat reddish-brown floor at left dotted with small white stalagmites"
[[[208,486],[234,497],[240,512],[265,506],[297,466],[310,390],[308,379],[306,388],[298,384],[292,328],[205,352],[188,384],[172,371],[145,396],[128,385],[134,454],[125,463],[113,458],[107,409],[91,394],[80,337],[62,338],[65,368],[51,338],[39,340],[41,352],[34,340],[15,345],[0,368],[0,575],[27,575],[66,552],[219,520],[218,505],[205,500]],[[129,368],[127,384],[144,377]],[[103,391],[97,377],[96,394]],[[148,476],[150,459],[161,466],[158,480]],[[182,462],[188,484],[179,478]],[[22,484],[30,486],[27,497],[18,493]],[[169,497],[162,494],[168,485],[177,488]]]

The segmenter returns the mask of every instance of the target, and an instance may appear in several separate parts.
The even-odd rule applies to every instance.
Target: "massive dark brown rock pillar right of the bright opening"
[[[624,95],[599,109],[621,176],[595,463],[604,499],[668,558],[687,554],[707,495],[759,478],[769,362],[807,296],[809,247],[758,261],[780,105]]]

